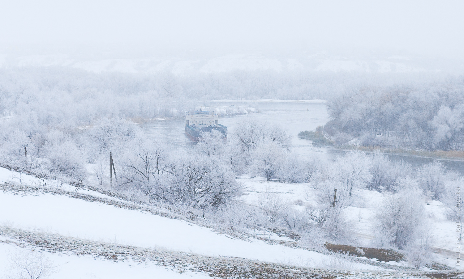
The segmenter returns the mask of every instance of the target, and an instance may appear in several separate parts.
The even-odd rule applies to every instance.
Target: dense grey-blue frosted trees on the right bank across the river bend
[[[464,149],[464,79],[416,86],[363,87],[328,102],[335,143],[418,150]]]

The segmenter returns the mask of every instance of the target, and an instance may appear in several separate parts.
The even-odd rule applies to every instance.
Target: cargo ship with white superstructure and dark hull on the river
[[[218,124],[218,114],[211,111],[195,111],[185,116],[185,134],[193,141],[201,137],[201,132],[217,130],[227,138],[227,127]]]

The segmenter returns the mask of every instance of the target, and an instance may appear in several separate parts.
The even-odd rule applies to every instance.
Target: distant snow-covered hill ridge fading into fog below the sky
[[[29,55],[13,57],[0,54],[0,67],[6,66],[65,66],[100,73],[172,72],[176,75],[191,73],[218,73],[237,70],[329,71],[370,73],[418,73],[458,71],[462,64],[433,60],[425,57],[399,55],[329,55],[324,52],[301,53],[297,57],[265,56],[258,53],[226,54],[219,57],[148,57],[148,58],[88,58],[66,54]]]

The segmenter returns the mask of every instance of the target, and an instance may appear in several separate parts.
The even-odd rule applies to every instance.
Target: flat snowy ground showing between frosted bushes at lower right
[[[247,203],[256,203],[258,197],[266,191],[277,194],[292,204],[316,203],[315,191],[309,187],[309,184],[279,183],[267,181],[265,178],[246,176],[238,180],[246,187],[244,198]],[[359,190],[353,206],[345,210],[348,219],[355,226],[359,246],[372,247],[371,241],[374,239],[376,231],[373,226],[374,209],[380,206],[387,195],[377,191]],[[296,205],[295,208],[304,209],[304,206]],[[432,247],[441,249],[441,253],[437,254],[438,259],[449,266],[454,266],[456,262],[456,253],[454,252],[456,250],[456,226],[453,221],[447,220],[443,212],[444,206],[441,202],[428,201],[425,206],[425,223],[429,229],[429,241],[431,241]],[[446,250],[447,253],[443,253],[443,250]]]

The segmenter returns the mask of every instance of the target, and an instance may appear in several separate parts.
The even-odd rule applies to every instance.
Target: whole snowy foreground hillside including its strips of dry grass
[[[229,278],[240,270],[238,266],[249,266],[248,271],[244,267],[247,273],[267,266],[270,277],[261,278],[287,274],[282,270],[294,270],[291,266],[300,266],[302,276],[321,274],[317,268],[354,270],[344,275],[334,271],[342,277],[374,276],[389,269],[402,270],[402,275],[390,273],[391,278],[418,275],[398,265],[309,251],[289,244],[290,239],[276,242],[228,235],[110,191],[76,190],[31,174],[0,168],[0,270],[5,274],[15,254],[40,251],[35,253],[56,266],[50,278]],[[259,180],[246,184],[253,184],[250,193],[256,187],[276,187]],[[299,194],[296,189],[282,193]],[[220,271],[224,261],[230,264],[228,272]]]

